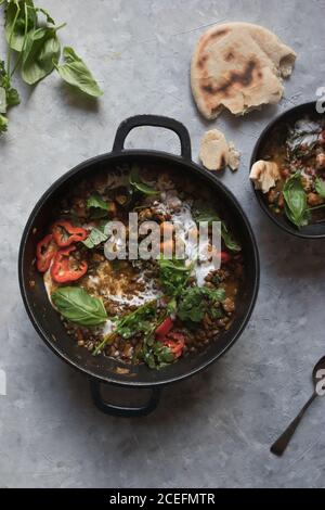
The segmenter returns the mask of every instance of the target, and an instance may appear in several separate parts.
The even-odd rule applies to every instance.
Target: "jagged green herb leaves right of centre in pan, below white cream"
[[[225,299],[223,289],[209,289],[207,286],[187,288],[181,295],[178,305],[178,317],[183,321],[200,322],[211,305]]]

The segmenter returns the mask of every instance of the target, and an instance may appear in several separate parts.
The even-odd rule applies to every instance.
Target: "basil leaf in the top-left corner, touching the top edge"
[[[25,5],[27,10],[25,12]],[[27,27],[26,27],[27,13]],[[5,10],[5,38],[9,47],[21,52],[24,47],[25,33],[34,30],[37,26],[37,14],[32,0],[10,2]]]

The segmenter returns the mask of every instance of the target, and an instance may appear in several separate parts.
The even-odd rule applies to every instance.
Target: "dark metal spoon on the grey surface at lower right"
[[[320,377],[320,374],[318,374],[320,370],[325,370],[325,356],[316,362],[316,365],[314,366],[314,369],[313,369],[314,393],[312,394],[310,399],[304,404],[303,408],[301,409],[299,415],[297,415],[295,420],[291,421],[291,423],[287,426],[287,429],[284,431],[284,433],[281,434],[281,436],[276,439],[275,443],[273,443],[273,445],[270,448],[272,454],[277,455],[277,456],[282,456],[282,454],[285,451],[286,447],[288,446],[292,435],[295,434],[295,431],[296,431],[297,426],[299,425],[304,412],[307,411],[307,409],[309,408],[311,403],[314,401],[316,396],[320,395],[320,393],[317,392],[317,384],[320,383],[320,381],[325,375],[323,373],[323,378]],[[323,384],[323,386],[324,386],[324,384]]]

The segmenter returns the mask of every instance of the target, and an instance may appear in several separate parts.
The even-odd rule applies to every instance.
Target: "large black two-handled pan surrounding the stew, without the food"
[[[125,150],[125,139],[129,131],[138,126],[157,126],[171,129],[181,141],[181,156],[166,152]],[[197,186],[213,190],[216,200],[226,209],[232,228],[243,246],[245,259],[245,284],[232,327],[220,334],[218,341],[197,356],[188,356],[162,370],[151,370],[145,365],[131,366],[128,374],[118,372],[121,362],[105,356],[94,357],[87,349],[77,346],[66,333],[58,314],[49,303],[41,275],[32,264],[38,241],[51,220],[54,204],[75,182],[94,173],[105,169],[110,171],[116,165],[139,162],[141,165],[154,164],[167,166],[176,174],[183,174],[197,180]],[[177,120],[142,115],[125,120],[117,130],[113,152],[81,163],[54,182],[35,206],[25,227],[18,257],[21,292],[29,318],[46,344],[63,360],[75,367],[90,379],[91,393],[95,405],[104,412],[118,416],[142,416],[151,412],[158,403],[161,386],[181,381],[207,368],[216,361],[239,337],[253,309],[259,286],[259,257],[255,237],[240,205],[233,194],[218,179],[191,160],[191,140],[188,131]],[[30,281],[35,284],[30,286]],[[150,387],[152,397],[141,407],[130,408],[114,406],[105,401],[101,394],[101,384],[112,383],[128,387]]]

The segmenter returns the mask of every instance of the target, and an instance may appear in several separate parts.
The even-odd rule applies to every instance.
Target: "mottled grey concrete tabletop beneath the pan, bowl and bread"
[[[31,92],[17,80],[23,104],[11,112],[10,131],[0,140],[0,369],[8,379],[8,395],[0,396],[0,486],[324,486],[324,400],[314,403],[283,459],[269,447],[310,396],[312,366],[325,354],[325,243],[291,239],[271,225],[251,193],[248,161],[275,113],[313,100],[325,86],[325,1],[41,3],[67,22],[62,41],[84,58],[105,95],[95,106],[55,75]],[[93,407],[86,379],[29,323],[17,285],[20,238],[40,194],[77,163],[110,150],[129,115],[180,119],[196,160],[208,124],[190,93],[191,53],[205,27],[226,20],[265,25],[299,55],[277,107],[209,124],[243,151],[239,171],[222,179],[258,238],[258,304],[238,343],[205,373],[168,387],[155,415],[108,418]],[[132,133],[128,146],[179,150],[173,135],[155,129]]]

